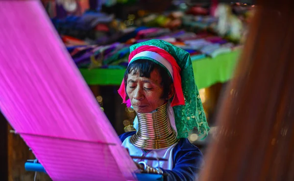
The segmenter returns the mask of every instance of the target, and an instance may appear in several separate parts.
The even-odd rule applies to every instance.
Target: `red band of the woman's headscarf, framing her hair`
[[[152,51],[155,53],[158,53],[163,58],[165,58],[169,63],[172,65],[173,70],[173,86],[174,86],[174,97],[172,99],[171,106],[178,106],[178,105],[185,105],[185,99],[184,94],[182,90],[182,81],[180,76],[181,68],[176,63],[176,60],[173,58],[173,56],[167,52],[166,50],[159,48],[157,46],[150,46],[150,45],[142,45],[138,48],[136,48],[134,51],[132,51],[129,55],[128,62],[131,61],[131,59],[138,53],[142,51]],[[126,103],[126,92],[125,92],[125,86],[124,86],[124,80],[121,84],[120,89],[118,90],[119,94],[123,98],[123,103]]]

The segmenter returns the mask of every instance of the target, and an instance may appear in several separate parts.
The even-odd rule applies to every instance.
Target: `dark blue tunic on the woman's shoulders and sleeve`
[[[127,132],[120,136],[122,142],[136,132]],[[167,181],[196,181],[203,164],[203,155],[199,148],[191,144],[187,138],[180,138],[172,150],[172,170],[162,169],[167,173]]]

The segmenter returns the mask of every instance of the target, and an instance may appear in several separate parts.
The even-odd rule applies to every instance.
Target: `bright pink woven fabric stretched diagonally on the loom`
[[[51,179],[135,180],[133,160],[40,1],[0,1],[0,23],[0,109]]]

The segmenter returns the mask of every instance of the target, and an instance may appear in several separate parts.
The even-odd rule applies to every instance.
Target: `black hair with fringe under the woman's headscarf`
[[[161,98],[167,99],[169,97],[169,92],[172,84],[172,78],[168,73],[166,68],[163,68],[159,64],[156,64],[150,60],[146,59],[139,59],[134,62],[131,62],[124,72],[124,86],[126,88],[127,76],[128,74],[136,74],[137,71],[140,73],[140,77],[147,77],[150,78],[150,73],[157,69],[159,71],[159,75],[161,76],[161,83],[160,85],[163,88],[163,94]]]

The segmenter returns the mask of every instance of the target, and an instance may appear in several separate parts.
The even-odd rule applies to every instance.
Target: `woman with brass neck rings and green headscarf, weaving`
[[[195,127],[207,135],[209,127],[190,54],[161,40],[132,45],[130,51],[119,93],[137,113],[136,132],[121,135],[122,145],[131,156],[168,159],[135,159],[144,172],[166,173],[170,181],[196,180],[203,155],[187,137]]]

